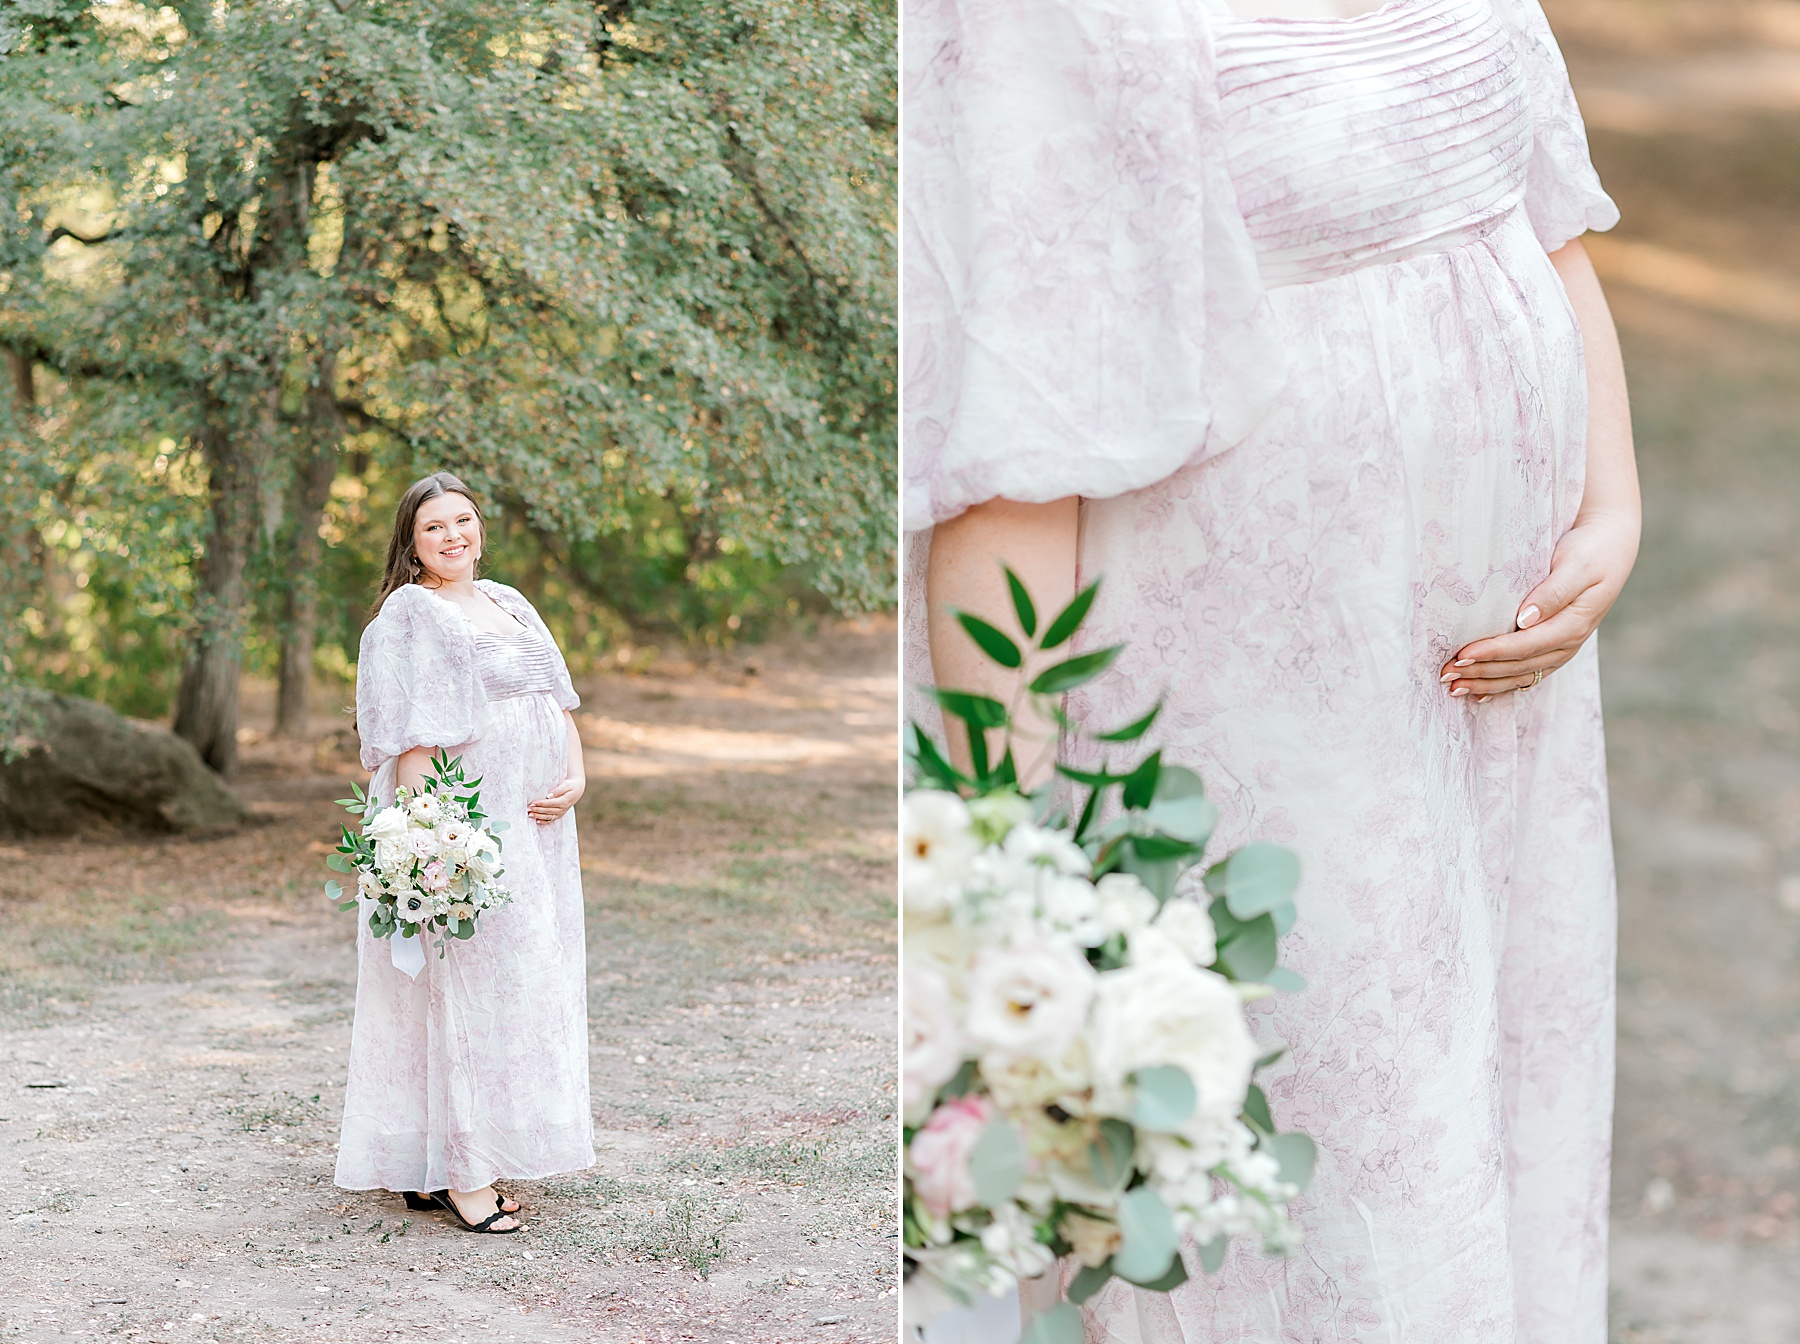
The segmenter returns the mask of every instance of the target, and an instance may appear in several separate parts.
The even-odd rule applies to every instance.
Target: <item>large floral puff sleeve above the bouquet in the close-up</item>
[[[905,525],[1111,497],[1242,439],[1285,360],[1192,0],[909,0]]]

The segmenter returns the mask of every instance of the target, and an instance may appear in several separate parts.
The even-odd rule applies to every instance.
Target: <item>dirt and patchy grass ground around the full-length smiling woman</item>
[[[238,837],[7,846],[0,1339],[891,1340],[895,691],[891,624],[583,687],[599,1164],[511,1238],[331,1186],[347,745],[252,745]]]

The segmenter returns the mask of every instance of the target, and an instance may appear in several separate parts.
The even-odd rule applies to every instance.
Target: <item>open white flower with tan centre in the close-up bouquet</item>
[[[1069,948],[988,948],[968,968],[963,1031],[995,1065],[1060,1060],[1087,1020],[1093,993],[1093,966]]]

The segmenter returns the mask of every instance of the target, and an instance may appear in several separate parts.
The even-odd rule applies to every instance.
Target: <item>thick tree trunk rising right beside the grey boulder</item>
[[[212,516],[196,576],[196,626],[176,696],[175,732],[225,775],[238,765],[238,675],[243,669],[247,567],[257,527],[257,462],[250,444],[227,428],[223,414],[207,417],[200,446]]]

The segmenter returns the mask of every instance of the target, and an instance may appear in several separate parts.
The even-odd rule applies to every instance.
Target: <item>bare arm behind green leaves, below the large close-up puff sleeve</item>
[[[1024,632],[1013,617],[1003,567],[1021,578],[1048,621],[1075,596],[1076,500],[1015,504],[994,500],[938,524],[931,534],[931,565],[925,572],[925,605],[931,624],[931,671],[938,685],[977,691],[1010,703],[1019,689],[1015,673],[997,668],[956,624],[956,612],[970,612],[1013,639]],[[1040,624],[1042,630],[1042,624]],[[1055,725],[1030,714],[1019,723],[1022,736],[1048,741]],[[967,768],[968,741],[961,723],[947,723],[952,759]],[[1035,788],[1049,774],[1048,756],[1019,754],[1021,783]]]

